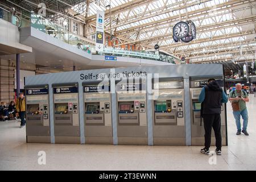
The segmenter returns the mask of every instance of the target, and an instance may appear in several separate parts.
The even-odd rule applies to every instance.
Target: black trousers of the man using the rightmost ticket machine
[[[204,146],[210,148],[212,128],[215,134],[216,147],[221,149],[221,116],[220,114],[204,114]]]

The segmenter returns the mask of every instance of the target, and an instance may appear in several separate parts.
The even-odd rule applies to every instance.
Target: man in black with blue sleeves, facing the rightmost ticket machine
[[[221,103],[228,102],[228,97],[218,82],[214,78],[210,78],[208,84],[201,90],[199,101],[202,102],[205,130],[205,147],[201,149],[201,153],[208,155],[210,152],[210,138],[213,128],[216,139],[215,152],[217,155],[221,155]]]

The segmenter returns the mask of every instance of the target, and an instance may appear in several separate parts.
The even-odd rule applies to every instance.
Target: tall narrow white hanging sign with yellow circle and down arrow
[[[104,50],[104,11],[97,11],[96,19],[96,51]]]

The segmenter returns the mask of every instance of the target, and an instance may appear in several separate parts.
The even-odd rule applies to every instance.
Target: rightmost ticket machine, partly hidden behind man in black
[[[200,116],[201,103],[199,102],[199,94],[204,85],[207,85],[208,79],[214,78],[223,89],[223,77],[190,77],[190,93],[191,93],[191,144],[204,145],[204,120]],[[226,138],[226,111],[225,104],[221,106],[221,136],[222,145],[227,145]],[[212,145],[215,144],[214,131],[212,130]]]

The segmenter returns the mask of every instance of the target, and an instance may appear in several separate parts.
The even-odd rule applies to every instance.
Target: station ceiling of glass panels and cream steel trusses
[[[38,3],[36,0],[7,2],[22,7],[26,4],[30,8]],[[163,51],[177,57],[185,57],[190,63],[254,61],[256,57],[255,0],[44,0],[42,2],[47,4],[48,9],[59,13],[69,9],[73,12],[73,17],[75,14],[76,18],[84,20],[86,26],[94,28],[96,11],[105,11],[105,31],[112,32],[120,40],[115,47],[131,43],[144,49],[152,49],[158,44]],[[190,43],[175,43],[172,38],[172,28],[177,22],[186,20],[195,23],[197,39]]]

